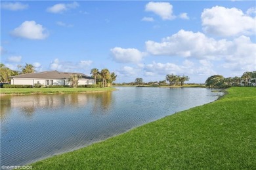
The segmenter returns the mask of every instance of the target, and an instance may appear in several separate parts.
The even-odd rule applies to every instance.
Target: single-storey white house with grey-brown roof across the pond
[[[68,73],[68,72],[58,72],[58,71],[47,71],[32,74],[21,74],[9,77],[11,78],[12,85],[70,85],[68,79],[70,75],[79,74],[81,78],[78,81],[78,85],[94,85],[95,80],[81,73]]]

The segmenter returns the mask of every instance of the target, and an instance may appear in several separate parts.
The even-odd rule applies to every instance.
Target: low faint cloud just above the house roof
[[[80,72],[80,70],[87,70],[93,61],[81,60],[79,62],[60,61],[55,58],[50,64],[51,70],[58,70],[60,72]]]

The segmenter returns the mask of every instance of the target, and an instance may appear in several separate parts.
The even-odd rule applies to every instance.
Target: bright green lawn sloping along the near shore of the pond
[[[256,89],[227,92],[215,102],[38,161],[33,169],[255,169]]]

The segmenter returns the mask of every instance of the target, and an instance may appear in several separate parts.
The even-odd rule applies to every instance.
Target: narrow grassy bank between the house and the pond
[[[96,91],[114,91],[108,88],[1,88],[1,95],[33,95],[33,94],[58,94],[58,93],[87,93]]]

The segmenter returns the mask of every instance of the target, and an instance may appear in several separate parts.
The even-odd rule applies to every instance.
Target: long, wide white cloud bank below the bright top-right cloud
[[[226,39],[215,40],[203,33],[179,31],[170,37],[163,38],[160,43],[146,41],[148,53],[153,55],[182,56],[196,58],[201,66],[189,72],[196,74],[215,73],[209,60],[221,60],[221,66],[234,71],[255,70],[256,44],[244,35],[228,41]],[[188,60],[184,61],[184,67],[192,66]],[[207,72],[206,72],[207,70]]]

